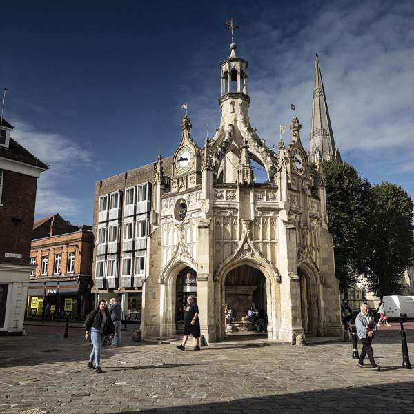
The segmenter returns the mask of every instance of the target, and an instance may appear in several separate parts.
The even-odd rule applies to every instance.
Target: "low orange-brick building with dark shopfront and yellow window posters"
[[[83,320],[90,311],[92,226],[59,214],[34,221],[26,317]]]

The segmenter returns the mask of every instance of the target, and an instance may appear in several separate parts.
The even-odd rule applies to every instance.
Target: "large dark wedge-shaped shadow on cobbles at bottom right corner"
[[[376,373],[375,373],[376,374]],[[392,390],[392,391],[391,391]],[[190,396],[188,397],[190,398]],[[372,413],[413,412],[414,381],[375,386],[351,386],[330,390],[315,390],[301,393],[269,395],[244,398],[234,401],[210,404],[186,404],[140,411],[119,411],[121,413]],[[359,407],[359,410],[358,410]]]

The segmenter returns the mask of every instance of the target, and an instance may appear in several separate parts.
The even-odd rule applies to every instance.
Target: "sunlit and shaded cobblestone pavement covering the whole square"
[[[68,339],[56,326],[27,333],[0,337],[0,413],[414,413],[414,369],[401,368],[396,329],[375,338],[381,372],[357,367],[346,342],[181,352],[134,344],[124,331],[123,346],[103,349],[97,374],[86,367],[83,330]],[[414,365],[414,330],[407,337]]]

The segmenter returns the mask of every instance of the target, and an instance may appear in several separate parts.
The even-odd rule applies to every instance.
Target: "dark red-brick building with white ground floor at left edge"
[[[0,333],[23,329],[37,179],[48,166],[10,137],[0,119]]]

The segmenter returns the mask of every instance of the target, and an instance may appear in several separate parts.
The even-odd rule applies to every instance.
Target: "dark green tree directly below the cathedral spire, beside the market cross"
[[[333,234],[335,273],[341,290],[355,283],[366,266],[366,234],[370,221],[370,184],[350,164],[335,159],[322,169],[326,184],[328,228]]]

